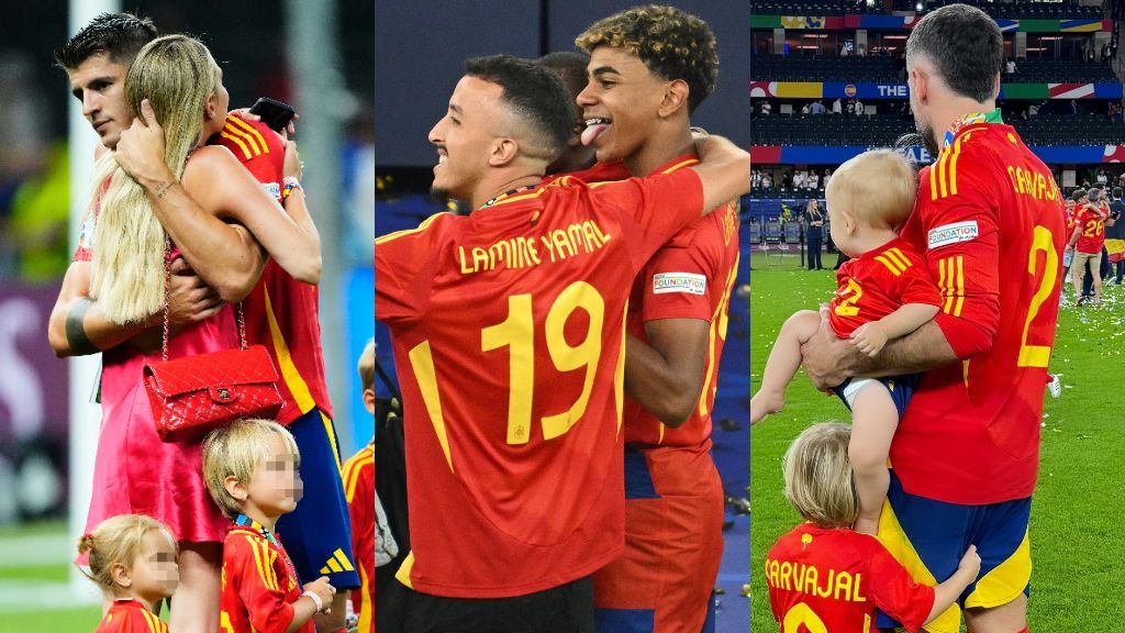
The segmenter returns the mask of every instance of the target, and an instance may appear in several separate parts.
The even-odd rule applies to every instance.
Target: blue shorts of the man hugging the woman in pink
[[[351,520],[340,474],[335,428],[317,408],[290,422],[288,428],[300,451],[305,494],[296,510],[278,519],[277,533],[303,583],[327,576],[333,587],[354,589],[359,587],[359,573],[352,554]]]

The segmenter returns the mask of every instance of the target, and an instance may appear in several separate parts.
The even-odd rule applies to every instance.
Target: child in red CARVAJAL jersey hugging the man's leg
[[[849,529],[860,514],[849,444],[847,425],[822,422],[785,452],[785,498],[808,523],[766,554],[770,607],[784,631],[872,631],[876,608],[918,631],[976,580],[976,546],[945,582],[915,582],[878,538]]]

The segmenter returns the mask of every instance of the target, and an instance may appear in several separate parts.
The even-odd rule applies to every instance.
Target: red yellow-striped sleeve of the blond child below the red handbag
[[[285,633],[292,622],[294,610],[286,601],[289,577],[278,572],[277,550],[250,535],[228,540],[226,546],[232,545],[235,550],[232,563],[241,580],[238,599],[246,607],[250,623],[259,633]],[[285,567],[284,561],[281,567]]]

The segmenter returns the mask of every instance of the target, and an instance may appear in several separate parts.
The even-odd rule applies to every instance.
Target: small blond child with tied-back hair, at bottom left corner
[[[89,561],[82,573],[112,600],[94,633],[168,633],[155,608],[176,591],[180,573],[164,524],[144,515],[110,517],[82,535],[78,552]]]

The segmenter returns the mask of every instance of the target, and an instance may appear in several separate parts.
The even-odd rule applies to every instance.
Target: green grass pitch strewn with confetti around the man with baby
[[[835,261],[826,257],[826,264]],[[755,255],[750,274],[750,363],[755,389],[782,322],[816,309],[835,289],[831,270],[798,268],[798,259],[766,262]],[[1012,269],[1012,274],[1018,270]],[[1061,312],[1051,362],[1062,373],[1062,396],[1046,395],[1040,479],[1032,507],[1032,631],[1079,633],[1122,630],[1125,587],[1125,287],[1106,288],[1107,304]],[[1110,303],[1110,301],[1113,303]],[[782,496],[781,456],[811,422],[847,419],[836,399],[812,389],[803,372],[785,410],[750,435],[752,622],[756,633],[777,631],[770,612],[765,553],[800,517]]]

